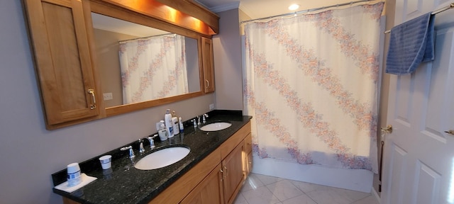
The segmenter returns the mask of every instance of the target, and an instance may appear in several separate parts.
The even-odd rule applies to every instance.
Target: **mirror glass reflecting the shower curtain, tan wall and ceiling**
[[[92,13],[106,108],[200,89],[197,40]]]

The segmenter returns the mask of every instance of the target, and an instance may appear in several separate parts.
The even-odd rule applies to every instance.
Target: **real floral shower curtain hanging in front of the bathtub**
[[[245,25],[243,95],[255,155],[377,173],[383,5]]]

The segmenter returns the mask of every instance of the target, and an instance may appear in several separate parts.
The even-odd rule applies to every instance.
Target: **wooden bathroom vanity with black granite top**
[[[53,188],[64,203],[233,203],[252,168],[250,116],[241,111],[211,111],[206,124],[231,123],[231,127],[205,132],[187,123],[183,133],[155,142],[155,149],[144,143],[139,154],[138,142],[132,145],[133,162],[127,152],[114,149],[111,173],[101,169],[99,155],[80,162],[82,173],[96,181],[72,193]],[[202,124],[204,125],[204,124]],[[187,147],[184,159],[154,170],[135,169],[134,162],[165,147]],[[52,174],[54,185],[66,181],[66,169]]]

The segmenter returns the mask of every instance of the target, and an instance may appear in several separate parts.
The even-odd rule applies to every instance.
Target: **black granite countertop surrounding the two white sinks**
[[[138,142],[132,142],[134,149],[134,162],[138,162],[148,154],[165,147],[189,147],[191,152],[179,162],[170,166],[165,166],[154,170],[135,169],[133,162],[128,158],[128,151],[120,151],[121,147],[114,149],[106,154],[112,155],[111,170],[103,170],[97,157],[85,162],[79,162],[82,173],[88,176],[96,177],[96,181],[89,183],[87,186],[80,188],[72,193],[57,190],[57,193],[79,203],[148,203],[153,200],[159,193],[177,181],[180,176],[189,171],[193,166],[198,164],[202,159],[213,152],[228,137],[240,130],[252,117],[242,115],[241,111],[211,111],[209,118],[206,118],[206,124],[216,122],[231,123],[231,127],[216,132],[204,132],[194,130],[192,123],[185,122],[184,132],[175,137],[159,141],[155,138],[155,149],[150,149],[148,140],[143,142],[145,153],[140,154],[138,151]],[[154,135],[154,134],[153,134]],[[144,136],[145,137],[145,136]],[[54,186],[66,181],[66,169],[52,174]]]

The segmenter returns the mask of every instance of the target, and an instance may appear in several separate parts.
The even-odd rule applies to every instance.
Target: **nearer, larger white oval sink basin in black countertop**
[[[134,165],[134,167],[135,169],[140,170],[159,169],[169,166],[170,164],[175,164],[186,157],[189,152],[189,149],[186,147],[169,147],[161,149],[143,157]]]

